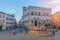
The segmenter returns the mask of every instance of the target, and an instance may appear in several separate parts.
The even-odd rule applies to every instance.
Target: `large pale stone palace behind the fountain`
[[[51,8],[28,6],[23,7],[21,22],[27,27],[41,26],[51,23]]]

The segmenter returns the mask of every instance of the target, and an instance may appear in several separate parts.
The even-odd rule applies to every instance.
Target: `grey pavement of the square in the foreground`
[[[0,32],[0,40],[60,40],[60,32],[57,32],[53,37],[25,37],[24,33],[13,35],[11,32]]]

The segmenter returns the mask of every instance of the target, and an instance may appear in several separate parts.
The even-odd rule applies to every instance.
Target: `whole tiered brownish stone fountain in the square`
[[[50,37],[53,36],[52,32],[49,32],[45,26],[32,27],[31,31],[25,34],[26,37]]]

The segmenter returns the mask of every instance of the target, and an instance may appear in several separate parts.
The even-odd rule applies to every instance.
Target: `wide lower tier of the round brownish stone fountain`
[[[48,33],[47,31],[30,31],[27,34],[25,34],[26,37],[48,37],[52,36],[52,33]]]

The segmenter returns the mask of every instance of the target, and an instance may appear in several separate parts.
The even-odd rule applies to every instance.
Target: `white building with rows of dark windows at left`
[[[0,12],[0,26],[2,26],[2,29],[5,29],[6,27],[14,27],[15,20],[15,15]]]

